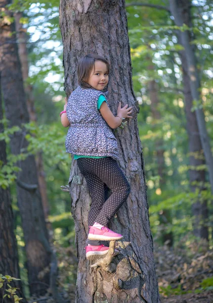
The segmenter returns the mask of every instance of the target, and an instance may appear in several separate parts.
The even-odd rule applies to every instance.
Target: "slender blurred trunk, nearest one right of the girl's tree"
[[[152,67],[150,67],[151,69]],[[150,100],[151,100],[151,112],[154,120],[160,120],[161,114],[158,110],[159,98],[158,98],[158,89],[157,83],[155,80],[151,80],[149,82],[149,92],[150,92]],[[156,160],[157,160],[157,171],[158,176],[160,176],[159,185],[161,190],[163,191],[165,185],[165,162],[164,162],[164,149],[162,139],[158,139],[156,141]],[[172,225],[172,216],[169,210],[162,210],[159,214],[159,221],[161,224],[161,237],[162,242],[165,243],[167,241],[168,246],[173,246],[173,233],[167,231],[167,225]]]

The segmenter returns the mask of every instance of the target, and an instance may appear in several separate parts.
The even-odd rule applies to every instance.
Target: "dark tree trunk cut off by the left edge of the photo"
[[[1,74],[0,74],[0,120],[2,120],[2,98],[1,98]],[[0,133],[4,132],[3,124],[0,123]],[[6,142],[0,141],[0,162],[1,165],[7,163],[6,156]],[[9,188],[3,189],[0,186],[0,273],[9,275],[11,277],[20,279],[19,266],[18,266],[18,250],[16,237],[14,234],[14,220],[13,211],[11,206],[11,196]],[[17,287],[16,294],[22,297],[22,302],[26,303],[27,300],[24,296],[21,281],[13,281],[12,287]],[[8,287],[7,287],[8,289]],[[4,293],[6,294],[7,291]],[[3,288],[0,288],[0,299],[3,296]],[[6,297],[5,303],[11,303],[11,299]]]

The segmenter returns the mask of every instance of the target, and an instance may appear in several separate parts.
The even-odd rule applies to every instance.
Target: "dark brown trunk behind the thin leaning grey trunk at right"
[[[190,10],[187,7],[185,13],[183,14],[184,24],[192,27]],[[180,32],[178,33],[178,39],[181,40]],[[189,39],[191,37],[189,36]],[[195,112],[191,111],[193,107],[193,97],[190,88],[190,78],[187,70],[187,58],[185,50],[180,52],[182,69],[183,69],[183,86],[184,86],[184,96],[185,96],[185,112],[187,120],[187,133],[189,137],[189,165],[191,167],[198,168],[200,165],[205,164],[202,144],[199,134],[199,129],[197,125],[197,118]],[[195,192],[196,189],[199,191],[205,189],[205,171],[198,169],[189,170],[189,182],[190,189]],[[200,201],[198,197],[196,203],[192,205],[192,214],[194,216],[194,235],[200,238],[204,238],[208,241],[208,227],[206,226],[206,221],[208,219],[208,209],[207,201]]]

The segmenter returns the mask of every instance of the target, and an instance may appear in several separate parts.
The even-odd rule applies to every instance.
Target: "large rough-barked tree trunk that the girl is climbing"
[[[110,62],[109,104],[116,114],[118,102],[133,106],[134,118],[116,138],[120,151],[120,167],[131,183],[127,202],[110,222],[110,228],[123,234],[122,247],[113,263],[116,271],[92,269],[84,251],[88,231],[90,196],[86,181],[76,161],[72,162],[69,179],[72,215],[75,221],[76,248],[79,259],[76,302],[160,302],[153,260],[145,185],[144,160],[138,134],[136,103],[132,83],[132,67],[127,20],[123,0],[75,0],[60,4],[60,26],[64,45],[65,91],[77,87],[77,63],[83,55],[95,53]]]

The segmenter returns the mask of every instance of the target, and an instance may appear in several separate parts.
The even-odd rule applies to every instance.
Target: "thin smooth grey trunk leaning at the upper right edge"
[[[182,26],[185,20],[185,14],[190,15],[190,0],[169,0],[171,12],[175,18],[175,24],[178,26]],[[189,76],[190,89],[193,100],[197,102],[197,105],[201,104],[200,100],[200,81],[199,74],[197,70],[196,56],[193,49],[193,45],[190,43],[190,32],[180,31],[180,42],[184,46],[184,52],[186,56],[186,68],[187,74]],[[207,165],[208,173],[209,173],[209,181],[211,185],[211,192],[213,193],[213,157],[211,153],[211,148],[209,144],[209,137],[206,130],[204,113],[202,109],[197,108],[195,110],[197,124],[201,139],[201,144],[205,156],[205,162]]]

